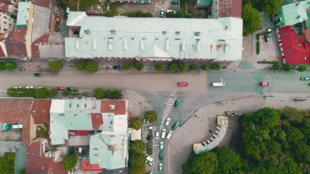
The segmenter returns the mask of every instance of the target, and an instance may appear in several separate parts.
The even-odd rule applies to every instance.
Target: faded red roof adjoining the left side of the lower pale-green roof
[[[31,114],[35,124],[49,124],[49,110],[51,100],[39,99],[34,100],[31,107]]]

